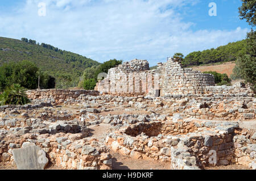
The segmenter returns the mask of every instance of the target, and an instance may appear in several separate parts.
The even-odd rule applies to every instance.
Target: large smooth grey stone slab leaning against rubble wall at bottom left
[[[43,170],[48,163],[46,152],[36,145],[13,149],[13,155],[18,170]]]

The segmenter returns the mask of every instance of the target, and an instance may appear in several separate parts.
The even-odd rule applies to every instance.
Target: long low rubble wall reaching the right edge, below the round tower
[[[170,113],[182,113],[183,116],[197,119],[255,119],[256,99],[236,96],[191,96],[188,98],[171,97],[159,99]]]

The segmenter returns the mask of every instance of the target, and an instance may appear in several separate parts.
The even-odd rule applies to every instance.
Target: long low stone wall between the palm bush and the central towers
[[[64,89],[44,89],[44,90],[28,90],[29,99],[53,99],[56,104],[64,103],[69,98],[76,99],[81,94],[100,95],[100,92],[93,90],[64,90]]]

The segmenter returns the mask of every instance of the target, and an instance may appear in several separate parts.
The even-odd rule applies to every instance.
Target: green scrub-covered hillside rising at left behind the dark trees
[[[15,40],[0,37],[0,66],[10,61],[35,62],[42,71],[56,78],[58,88],[75,87],[84,69],[99,62],[35,40]]]

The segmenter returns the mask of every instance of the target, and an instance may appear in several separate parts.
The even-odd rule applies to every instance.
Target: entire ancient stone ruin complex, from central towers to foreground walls
[[[0,106],[0,168],[118,169],[118,154],[130,169],[256,169],[250,87],[214,86],[173,58],[155,70],[125,62],[104,77],[93,91],[28,90],[30,104]]]

